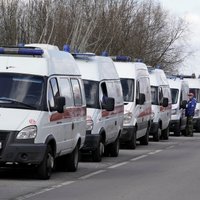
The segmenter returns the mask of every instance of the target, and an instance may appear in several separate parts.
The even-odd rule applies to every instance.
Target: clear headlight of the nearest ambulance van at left
[[[28,126],[17,134],[17,139],[33,139],[37,135],[36,126]]]

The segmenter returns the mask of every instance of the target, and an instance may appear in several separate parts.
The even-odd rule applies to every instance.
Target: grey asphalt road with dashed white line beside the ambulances
[[[200,134],[121,149],[75,173],[38,180],[33,171],[0,170],[0,200],[199,200]]]

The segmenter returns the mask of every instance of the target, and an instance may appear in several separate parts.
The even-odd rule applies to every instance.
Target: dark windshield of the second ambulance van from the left
[[[99,82],[83,80],[88,108],[99,108]]]

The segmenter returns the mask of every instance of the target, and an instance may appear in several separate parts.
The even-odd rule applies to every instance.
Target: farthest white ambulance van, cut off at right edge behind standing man
[[[197,100],[193,121],[195,131],[200,132],[200,79],[196,78],[195,74],[180,76],[183,77],[184,80],[187,80],[189,91],[194,94],[194,97]]]

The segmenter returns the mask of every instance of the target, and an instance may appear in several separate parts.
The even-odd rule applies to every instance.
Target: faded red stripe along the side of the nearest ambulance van
[[[86,116],[86,107],[75,107],[64,110],[64,113],[53,113],[50,116],[50,121],[57,121],[61,119],[70,119],[73,117],[84,117]]]

